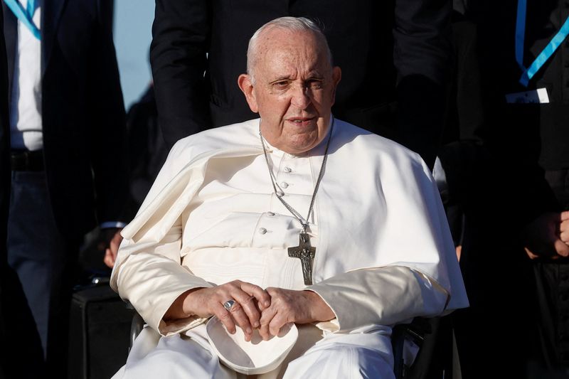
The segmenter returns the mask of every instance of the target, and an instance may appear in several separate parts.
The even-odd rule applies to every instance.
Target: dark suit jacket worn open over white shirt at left
[[[61,232],[81,235],[97,222],[119,220],[128,191],[112,1],[46,0],[41,20],[50,201]],[[16,25],[14,14],[4,8],[10,84]]]

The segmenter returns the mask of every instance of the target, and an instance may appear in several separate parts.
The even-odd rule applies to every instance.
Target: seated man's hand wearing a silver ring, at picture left
[[[229,310],[223,306],[228,300],[235,301]],[[271,297],[264,289],[255,284],[234,280],[216,287],[184,292],[171,305],[164,319],[214,315],[229,333],[235,333],[235,324],[240,326],[245,333],[245,340],[250,341],[253,329],[260,326],[261,311],[267,309],[270,304]]]

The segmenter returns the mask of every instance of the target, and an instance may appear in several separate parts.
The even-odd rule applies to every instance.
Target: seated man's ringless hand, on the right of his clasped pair
[[[328,321],[334,319],[334,312],[312,291],[294,291],[269,287],[267,292],[271,297],[271,304],[263,309],[260,320],[259,333],[265,341],[277,336],[280,329],[291,323],[308,324],[315,321]]]

